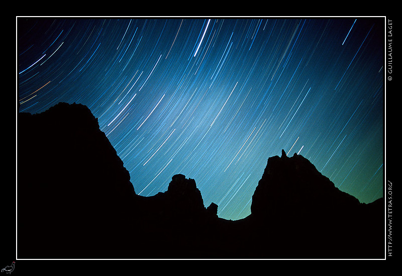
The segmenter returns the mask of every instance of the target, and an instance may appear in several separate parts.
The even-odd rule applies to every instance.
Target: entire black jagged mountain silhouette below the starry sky
[[[137,195],[81,104],[17,118],[18,258],[383,258],[384,201],[360,203],[302,155],[269,157],[240,220],[194,179]],[[134,179],[135,181],[135,179]]]

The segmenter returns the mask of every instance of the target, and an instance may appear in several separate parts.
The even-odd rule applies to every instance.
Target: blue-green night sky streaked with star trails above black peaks
[[[87,106],[136,194],[164,192],[182,173],[221,218],[250,214],[267,159],[282,149],[370,203],[383,192],[384,26],[383,17],[17,18],[19,112]]]

